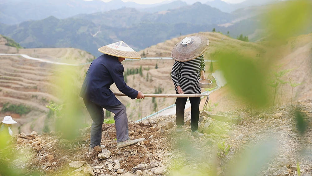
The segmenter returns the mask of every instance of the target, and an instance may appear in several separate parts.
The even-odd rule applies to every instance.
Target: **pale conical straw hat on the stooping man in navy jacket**
[[[111,56],[116,56],[120,58],[130,58],[130,59],[140,59],[141,56],[139,53],[134,51],[131,47],[129,47],[124,41],[119,41],[116,43],[112,43],[101,47],[98,49],[101,53],[105,53]]]

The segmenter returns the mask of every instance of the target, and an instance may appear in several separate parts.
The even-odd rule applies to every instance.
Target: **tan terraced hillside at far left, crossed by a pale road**
[[[0,53],[22,53],[35,58],[67,63],[85,63],[94,56],[74,48],[23,49],[7,46],[0,38]],[[78,67],[77,67],[78,68]],[[79,69],[83,69],[80,66]],[[56,68],[21,56],[0,56],[0,116],[11,115],[18,122],[14,132],[42,131],[49,112],[46,105],[59,102],[53,83]]]

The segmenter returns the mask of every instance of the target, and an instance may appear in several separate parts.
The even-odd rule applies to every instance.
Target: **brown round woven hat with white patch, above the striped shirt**
[[[209,40],[204,36],[186,37],[173,47],[171,57],[179,62],[190,61],[202,55],[207,50],[208,45]]]

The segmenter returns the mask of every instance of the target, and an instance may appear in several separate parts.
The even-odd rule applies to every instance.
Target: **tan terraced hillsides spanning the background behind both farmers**
[[[210,45],[204,53],[206,60],[213,60],[214,51],[217,49],[235,49],[247,53],[253,57],[259,55],[259,50],[265,49],[266,43],[247,43],[233,38],[229,38],[220,33],[199,33],[205,35]],[[196,34],[190,34],[196,35]],[[188,35],[188,36],[190,36]],[[171,49],[184,38],[174,38],[172,40],[159,43],[150,48],[140,51],[142,57],[170,57]],[[278,62],[274,65],[282,66],[279,70],[293,68],[284,78],[293,78],[296,83],[303,83],[294,88],[293,100],[300,100],[312,95],[312,76],[310,70],[312,35],[299,36],[289,39],[283,46],[284,55],[278,56]],[[89,53],[74,48],[32,48],[23,49],[6,46],[6,41],[0,38],[0,53],[22,53],[34,58],[43,58],[49,61],[66,63],[87,63],[94,57]],[[127,84],[143,93],[175,93],[170,77],[173,60],[126,60],[123,62],[124,75]],[[156,67],[157,65],[157,67]],[[206,76],[209,73],[210,62],[206,63]],[[80,77],[77,78],[78,84],[75,86],[80,89],[85,72],[89,64],[75,66]],[[213,71],[218,69],[218,63],[213,63]],[[140,71],[142,70],[142,71]],[[1,112],[0,116],[10,114],[18,121],[17,127],[20,132],[29,133],[33,129],[41,132],[46,123],[48,108],[46,105],[50,101],[58,102],[57,95],[53,91],[61,89],[55,85],[53,80],[56,78],[56,68],[49,63],[28,60],[20,56],[0,56],[0,108],[10,103],[20,105],[22,110],[30,107],[31,111],[27,114],[12,114],[12,112]],[[211,77],[210,77],[211,78]],[[289,103],[291,100],[291,87],[289,83],[283,87],[283,98],[281,97],[281,87],[278,88],[277,104]],[[113,92],[119,92],[113,85]],[[205,90],[202,90],[205,91]],[[273,89],[272,89],[273,91]],[[237,103],[237,98],[229,93],[227,86],[221,88],[210,96],[212,112],[227,111],[233,108],[246,106]],[[131,100],[128,97],[118,97],[127,106],[129,120],[137,120],[148,116],[157,110],[163,109],[174,104],[175,98],[145,98],[144,100]],[[216,106],[214,105],[216,104]],[[8,105],[6,105],[8,106]],[[27,110],[27,108],[26,108]],[[0,109],[1,111],[1,109]],[[90,118],[86,114],[86,119]],[[113,117],[113,114],[110,115]],[[17,129],[16,129],[17,130]]]

